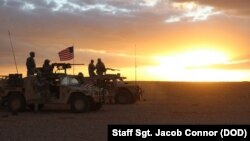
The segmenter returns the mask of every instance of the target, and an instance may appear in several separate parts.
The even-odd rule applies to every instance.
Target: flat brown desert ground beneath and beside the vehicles
[[[67,105],[11,115],[0,110],[1,141],[106,141],[108,124],[250,124],[250,83],[139,82],[143,100],[74,114]]]

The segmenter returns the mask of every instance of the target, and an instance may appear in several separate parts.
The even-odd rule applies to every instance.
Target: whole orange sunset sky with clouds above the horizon
[[[90,59],[134,80],[249,81],[249,0],[0,0],[1,75],[19,72],[36,52],[60,62],[74,45],[75,73]],[[69,61],[72,63],[72,61]],[[70,70],[69,72],[72,73]],[[117,72],[108,72],[117,73]]]

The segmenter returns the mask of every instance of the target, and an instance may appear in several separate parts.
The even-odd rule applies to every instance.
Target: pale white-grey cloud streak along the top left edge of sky
[[[87,11],[99,11],[101,13],[107,14],[128,14],[131,12],[130,9],[123,7],[118,7],[112,4],[109,4],[107,1],[95,3],[87,3],[81,0],[41,0],[41,1],[32,1],[32,0],[12,0],[4,1],[0,3],[1,6],[6,7],[16,7],[23,11],[32,11],[32,10],[50,10],[52,12],[66,12],[66,13],[81,13]]]

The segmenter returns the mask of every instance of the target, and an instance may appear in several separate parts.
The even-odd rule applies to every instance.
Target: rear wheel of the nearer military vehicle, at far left
[[[8,98],[8,108],[12,113],[18,113],[25,109],[25,99],[22,94],[11,94]]]

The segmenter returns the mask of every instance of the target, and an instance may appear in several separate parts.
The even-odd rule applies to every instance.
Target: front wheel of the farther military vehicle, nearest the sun
[[[115,103],[118,104],[129,104],[132,101],[132,94],[126,90],[126,89],[122,89],[119,90],[118,93],[116,93],[115,96]]]

